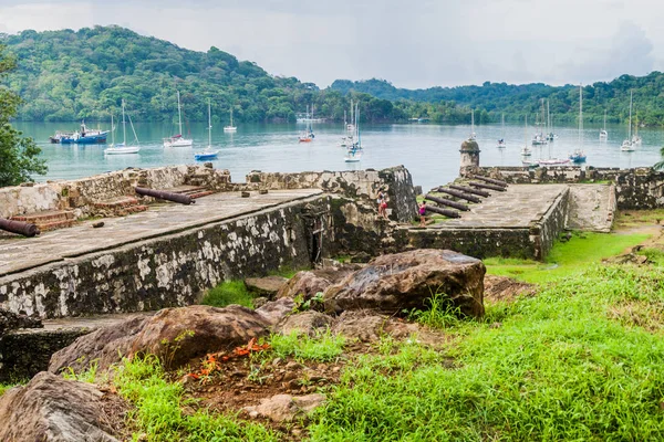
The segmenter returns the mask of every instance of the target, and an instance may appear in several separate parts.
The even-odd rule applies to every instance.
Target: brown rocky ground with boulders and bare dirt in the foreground
[[[407,318],[407,312],[427,308],[433,293],[446,293],[446,302],[476,317],[484,314],[483,296],[505,301],[533,293],[531,286],[484,276],[478,260],[413,251],[363,266],[301,272],[290,281],[249,281],[266,297],[256,311],[190,306],[127,319],[79,338],[53,355],[49,372],[2,396],[0,440],[73,441],[83,440],[85,431],[95,440],[131,439],[137,429],[126,417],[135,406],[118,394],[112,367],[146,354],[158,356],[166,378],[184,386],[185,414],[237,414],[300,440],[307,414],[324,402],[344,367],[377,354],[383,339],[417,339],[433,348],[449,341],[444,332]],[[339,351],[284,354],[269,338],[295,335],[298,340],[329,339]],[[96,385],[59,376],[91,370]],[[20,435],[25,425],[32,439]]]

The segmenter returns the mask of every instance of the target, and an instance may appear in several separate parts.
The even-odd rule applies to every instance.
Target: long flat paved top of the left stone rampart
[[[92,228],[95,221],[84,221],[76,227],[45,232],[33,239],[6,235],[0,238],[0,277],[321,193],[318,189],[278,190],[267,194],[252,192],[250,198],[241,198],[240,192],[216,193],[197,199],[191,206],[153,204],[142,213],[103,219],[104,227],[100,229]]]

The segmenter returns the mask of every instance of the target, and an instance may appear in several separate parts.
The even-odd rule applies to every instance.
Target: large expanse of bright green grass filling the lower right
[[[487,306],[442,352],[361,358],[310,427],[313,441],[664,438],[664,339],[616,305],[664,302],[661,270],[590,265],[538,296]],[[454,364],[446,364],[453,359]]]

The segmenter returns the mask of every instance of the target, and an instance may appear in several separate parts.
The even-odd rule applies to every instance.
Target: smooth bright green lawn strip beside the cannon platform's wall
[[[643,233],[574,233],[568,242],[556,243],[544,263],[502,257],[484,262],[489,274],[541,284],[578,273],[580,266],[618,255],[649,238]]]

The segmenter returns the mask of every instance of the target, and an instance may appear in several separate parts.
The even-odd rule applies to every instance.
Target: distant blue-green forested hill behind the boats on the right
[[[548,86],[541,83],[510,85],[486,82],[481,86],[432,87],[427,90],[397,88],[384,80],[352,82],[338,80],[331,90],[346,94],[366,93],[390,101],[421,103],[435,112],[436,104],[445,102],[464,108],[475,108],[477,120],[517,119],[540,112],[540,98],[550,102],[551,114],[557,120],[575,122],[579,113],[579,86]],[[612,82],[599,82],[583,86],[584,120],[601,122],[604,109],[613,123],[627,119],[630,91],[634,93],[634,115],[647,126],[664,125],[664,74],[653,72],[647,76],[622,75]],[[425,104],[430,104],[426,106]],[[426,115],[425,115],[426,116]]]

